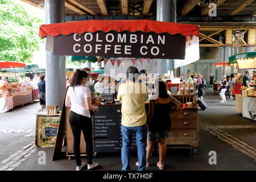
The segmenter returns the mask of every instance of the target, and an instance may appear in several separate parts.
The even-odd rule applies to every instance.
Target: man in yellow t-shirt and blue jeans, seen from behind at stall
[[[147,147],[147,115],[144,102],[147,101],[147,86],[139,83],[139,71],[135,67],[127,68],[126,76],[129,82],[119,86],[117,96],[119,101],[122,100],[122,170],[130,170],[130,147],[135,132],[138,148],[138,170],[144,171],[146,169]]]

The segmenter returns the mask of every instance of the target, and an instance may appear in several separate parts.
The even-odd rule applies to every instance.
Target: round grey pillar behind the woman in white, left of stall
[[[65,1],[45,0],[46,24],[63,23]],[[62,110],[65,97],[65,56],[55,56],[46,51],[46,105],[59,105]]]

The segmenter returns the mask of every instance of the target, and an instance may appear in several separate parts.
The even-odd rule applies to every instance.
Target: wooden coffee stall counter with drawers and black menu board
[[[195,96],[174,96],[178,100],[185,102],[195,101]],[[189,98],[187,98],[189,97]],[[182,103],[182,102],[181,102]],[[93,115],[93,144],[94,152],[120,152],[122,148],[121,134],[121,104],[99,105],[99,110]],[[146,111],[148,102],[145,103]],[[69,107],[66,108],[66,135],[67,135],[67,155],[73,154],[73,135],[69,126]],[[172,125],[170,138],[166,140],[167,148],[195,148],[199,147],[198,139],[198,118],[197,107],[182,108],[171,113]],[[131,151],[136,151],[135,135],[131,145]],[[81,133],[81,154],[85,154],[85,141]]]

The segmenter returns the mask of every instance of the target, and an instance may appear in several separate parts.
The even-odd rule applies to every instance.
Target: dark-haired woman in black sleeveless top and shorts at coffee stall
[[[164,169],[163,160],[166,156],[166,138],[170,137],[171,110],[172,106],[181,108],[181,103],[167,93],[166,83],[159,81],[156,85],[155,94],[150,98],[147,114],[147,157],[146,164],[149,166],[149,158],[154,151],[154,143],[158,143],[159,162],[156,165]],[[138,165],[138,162],[137,162]]]

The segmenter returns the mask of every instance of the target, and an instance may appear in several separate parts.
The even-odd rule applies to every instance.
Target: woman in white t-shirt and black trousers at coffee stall
[[[77,69],[72,77],[71,86],[67,91],[65,100],[66,107],[71,107],[69,123],[73,134],[73,151],[76,159],[76,171],[80,171],[85,163],[80,159],[80,138],[81,130],[86,142],[87,168],[92,169],[98,166],[92,162],[93,158],[93,135],[92,119],[89,110],[98,111],[98,106],[93,106],[90,101],[90,90],[86,87],[89,75],[85,71]]]

